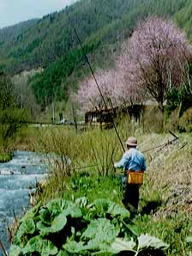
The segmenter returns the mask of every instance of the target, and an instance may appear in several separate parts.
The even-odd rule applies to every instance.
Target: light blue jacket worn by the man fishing
[[[122,159],[114,164],[114,167],[133,171],[146,171],[147,169],[145,156],[136,148],[126,151]]]

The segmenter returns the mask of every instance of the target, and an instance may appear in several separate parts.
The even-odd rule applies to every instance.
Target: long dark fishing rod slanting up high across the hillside
[[[68,17],[69,17],[69,13],[68,13]],[[70,18],[69,18],[69,21],[70,21]],[[86,62],[87,62],[87,64],[88,64],[88,67],[89,67],[89,69],[91,70],[93,79],[94,79],[94,81],[95,81],[95,83],[96,83],[96,85],[97,85],[97,88],[99,89],[99,94],[100,94],[100,96],[101,96],[101,98],[102,98],[102,101],[104,102],[105,108],[106,108],[106,110],[108,110],[108,107],[107,107],[107,104],[106,104],[104,95],[102,94],[101,89],[99,88],[99,83],[98,83],[96,77],[94,76],[93,68],[92,68],[92,66],[91,66],[91,64],[90,64],[90,61],[89,61],[89,59],[88,59],[88,57],[87,57],[86,52],[84,51],[84,48],[83,48],[82,43],[81,43],[81,39],[80,39],[79,35],[77,34],[75,25],[73,24],[72,21],[71,21],[70,23],[71,23],[71,26],[73,27],[73,30],[74,30],[74,32],[75,32],[75,36],[76,36],[78,42],[80,43],[81,52],[82,52],[82,54],[83,54],[83,57],[85,58],[85,60],[86,60]],[[117,127],[116,127],[116,125],[115,125],[115,123],[114,123],[113,117],[112,117],[112,115],[111,115],[110,112],[109,112],[109,114],[110,114],[110,116],[111,116],[112,125],[113,125],[113,127],[114,127],[114,129],[115,129],[115,131],[116,131],[118,140],[119,140],[119,142],[120,142],[120,144],[121,144],[121,146],[122,146],[122,148],[123,148],[123,152],[125,152],[125,149],[124,149],[124,147],[123,147],[122,140],[121,140],[121,138],[120,138],[120,136],[119,136],[119,134],[118,134]]]

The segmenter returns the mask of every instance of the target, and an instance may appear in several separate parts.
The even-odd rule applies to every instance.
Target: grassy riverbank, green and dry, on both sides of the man
[[[123,139],[130,134],[138,137],[141,150],[173,138],[170,134],[142,134],[135,128],[125,122],[118,126],[118,131]],[[188,144],[181,149],[186,142]],[[177,142],[146,153],[147,173],[141,186],[140,213],[132,223],[136,233],[156,235],[169,243],[171,247],[166,254],[172,256],[189,255],[191,251],[191,244],[185,241],[192,233],[191,145],[191,134],[181,134]],[[43,201],[86,196],[90,202],[96,198],[110,198],[121,204],[121,182],[114,176],[111,158],[114,162],[119,160],[122,149],[114,131],[95,130],[76,136],[75,131],[63,127],[55,131],[39,130],[36,149],[69,155],[74,164],[69,172],[62,168],[61,162],[57,168],[51,167],[50,178],[40,196]],[[74,170],[95,163],[100,165]]]

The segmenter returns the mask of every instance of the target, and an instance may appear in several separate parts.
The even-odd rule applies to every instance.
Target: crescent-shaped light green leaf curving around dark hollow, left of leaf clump
[[[45,225],[43,222],[37,223],[37,228],[39,229],[40,235],[45,236],[52,233],[57,233],[61,231],[67,224],[67,217],[65,213],[59,214],[52,222],[50,226]]]

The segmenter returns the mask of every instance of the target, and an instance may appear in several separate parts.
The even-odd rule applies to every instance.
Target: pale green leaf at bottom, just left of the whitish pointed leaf
[[[123,251],[129,251],[129,252],[135,252],[134,247],[135,247],[135,241],[130,240],[130,241],[124,241],[121,238],[117,238],[112,244],[111,248],[114,253],[120,253]]]

